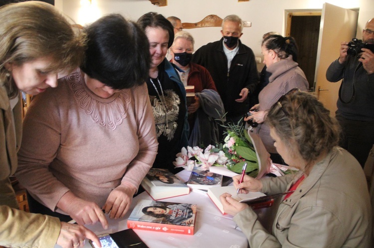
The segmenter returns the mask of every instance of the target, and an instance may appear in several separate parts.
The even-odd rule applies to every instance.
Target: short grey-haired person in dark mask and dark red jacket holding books
[[[213,79],[204,67],[191,63],[194,40],[186,31],[178,32],[170,48],[173,64],[183,72],[179,72],[182,83],[193,85],[195,102],[188,110],[189,146],[207,147],[219,143],[218,122],[224,115],[224,108]],[[224,121],[224,120],[223,120]]]

